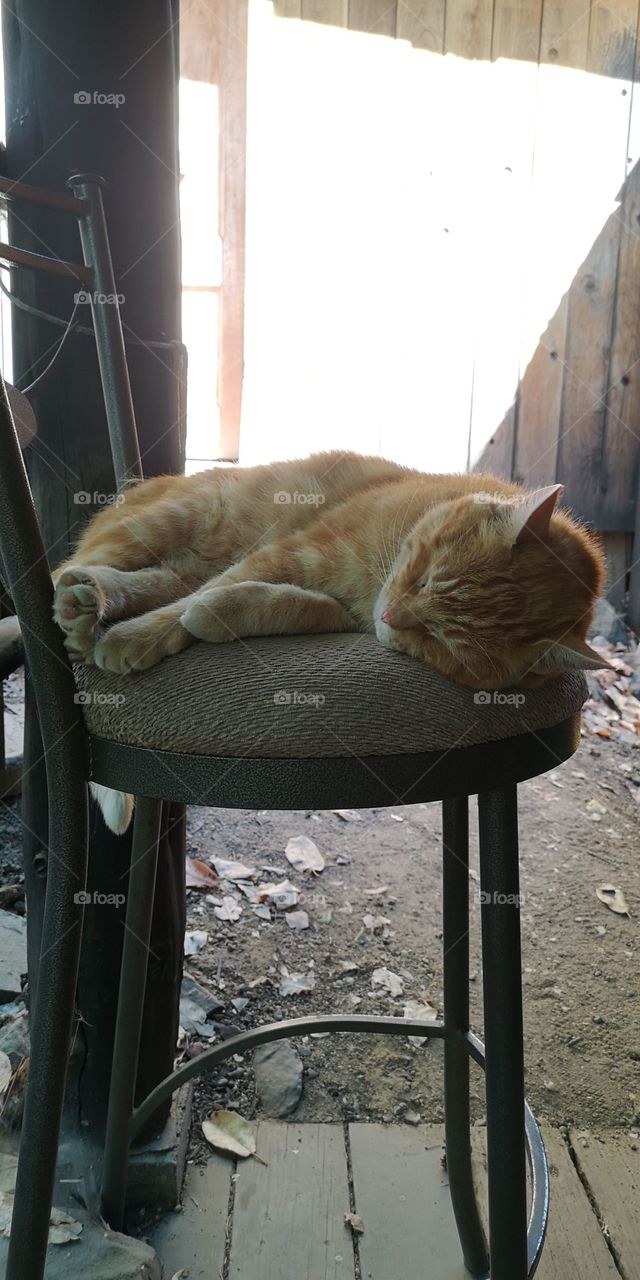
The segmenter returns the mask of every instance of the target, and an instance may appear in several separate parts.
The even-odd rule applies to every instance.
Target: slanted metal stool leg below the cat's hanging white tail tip
[[[161,800],[138,797],[133,826],[127,919],[115,1021],[114,1057],[106,1112],[102,1167],[102,1216],[122,1230],[129,1161],[129,1124],[138,1070],[140,1030],[145,1007],[148,940],[160,838]]]

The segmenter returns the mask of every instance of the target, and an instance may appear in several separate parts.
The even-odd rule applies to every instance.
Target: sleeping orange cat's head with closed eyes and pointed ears
[[[430,508],[380,591],[378,639],[472,687],[607,666],[585,643],[603,554],[554,512],[561,492],[479,492]]]

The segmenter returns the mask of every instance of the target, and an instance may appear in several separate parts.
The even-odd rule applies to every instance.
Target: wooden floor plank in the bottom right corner
[[[577,1167],[605,1224],[625,1280],[640,1280],[639,1203],[640,1151],[626,1134],[599,1140],[593,1134],[571,1135]],[[586,1274],[586,1272],[585,1272]]]

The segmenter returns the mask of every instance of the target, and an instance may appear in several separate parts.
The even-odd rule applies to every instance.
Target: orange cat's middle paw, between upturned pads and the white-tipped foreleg
[[[102,671],[127,676],[132,671],[147,671],[163,658],[180,653],[192,643],[192,636],[173,617],[157,609],[142,618],[128,618],[110,627],[97,641],[93,662]]]

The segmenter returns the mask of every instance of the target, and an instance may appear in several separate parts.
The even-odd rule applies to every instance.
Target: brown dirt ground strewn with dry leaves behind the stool
[[[639,746],[630,735],[626,741],[584,737],[573,759],[520,788],[527,1096],[534,1111],[556,1124],[640,1125]],[[0,884],[19,876],[17,810],[0,803]],[[471,820],[470,991],[472,1025],[481,1034],[474,801]],[[308,836],[323,852],[319,876],[287,863],[293,836]],[[237,891],[242,915],[224,923],[204,893],[189,891],[188,928],[205,931],[207,941],[186,959],[186,972],[224,1006],[218,1020],[238,1028],[314,1010],[402,1015],[407,1000],[442,1011],[439,841],[438,805],[361,810],[360,820],[334,813],[192,810],[189,856],[269,868],[273,876],[265,870],[262,882],[291,879],[310,924],[297,933],[278,910],[261,920]],[[625,893],[628,918],[598,900],[605,882]],[[385,936],[366,927],[367,915],[387,919]],[[312,993],[282,996],[283,966],[312,969]],[[372,984],[378,968],[401,978],[399,997]],[[234,1000],[247,1004],[238,1011]],[[301,1121],[442,1119],[436,1042],[416,1047],[404,1038],[340,1036],[297,1044],[305,1068]],[[183,1055],[197,1051],[193,1037],[180,1047]],[[247,1117],[259,1114],[248,1057],[198,1084],[197,1117],[214,1105],[236,1106]],[[481,1117],[483,1079],[475,1068],[472,1101]]]

